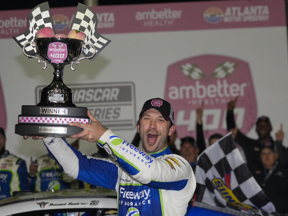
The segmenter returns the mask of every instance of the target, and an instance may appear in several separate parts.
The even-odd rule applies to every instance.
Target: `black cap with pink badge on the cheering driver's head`
[[[149,109],[158,110],[166,121],[171,121],[171,123],[174,124],[174,111],[168,101],[161,98],[152,98],[150,100],[147,100],[141,109],[139,119],[141,118],[143,113]]]

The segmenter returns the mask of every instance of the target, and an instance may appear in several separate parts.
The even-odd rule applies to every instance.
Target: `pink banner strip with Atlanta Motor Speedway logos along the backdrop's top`
[[[207,1],[91,7],[100,34],[252,28],[286,25],[284,0]],[[58,34],[67,34],[76,7],[50,8]],[[27,28],[30,10],[0,12],[0,38]]]

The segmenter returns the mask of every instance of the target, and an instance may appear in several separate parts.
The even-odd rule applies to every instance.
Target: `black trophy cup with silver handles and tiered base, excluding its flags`
[[[42,60],[26,53],[27,44],[36,47]],[[87,45],[94,49],[93,55],[77,60]],[[15,133],[21,136],[69,137],[81,132],[82,128],[69,126],[69,123],[90,123],[87,108],[73,104],[73,93],[63,83],[63,72],[65,65],[71,64],[71,69],[75,70],[72,67],[74,63],[79,64],[80,60],[93,57],[96,53],[95,47],[78,39],[44,37],[25,43],[22,50],[24,55],[37,59],[40,64],[43,62],[43,69],[46,69],[46,63],[51,64],[54,77],[52,82],[43,88],[37,105],[22,105]]]

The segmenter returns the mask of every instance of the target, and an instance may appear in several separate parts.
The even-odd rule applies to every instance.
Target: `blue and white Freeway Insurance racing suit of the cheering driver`
[[[118,215],[185,215],[196,188],[190,164],[167,146],[147,154],[108,129],[97,144],[113,160],[82,155],[61,138],[43,138],[49,152],[73,178],[118,194]]]

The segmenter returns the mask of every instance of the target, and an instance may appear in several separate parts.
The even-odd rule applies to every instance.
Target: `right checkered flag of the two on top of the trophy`
[[[93,10],[84,4],[78,3],[76,8],[76,12],[74,14],[72,24],[70,26],[70,30],[76,29],[82,31],[86,34],[85,43],[91,43],[96,48],[95,55],[90,58],[90,60],[94,60],[94,58],[104,49],[111,40],[108,40],[105,37],[102,37],[96,30],[98,23],[98,18]],[[87,46],[83,49],[82,54],[85,57],[89,57],[94,53],[94,49]]]

